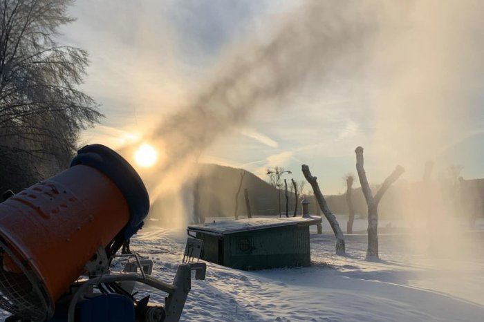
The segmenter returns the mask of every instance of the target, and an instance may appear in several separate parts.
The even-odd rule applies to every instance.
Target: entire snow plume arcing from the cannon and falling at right
[[[411,222],[412,251],[462,253],[464,239],[454,222],[462,212],[455,206],[460,192],[436,175],[449,162],[443,151],[472,122],[467,106],[483,75],[483,6],[472,0],[308,1],[272,19],[272,31],[234,43],[201,91],[184,99],[190,103],[146,137],[163,153],[158,167],[142,173],[151,217],[186,225],[193,215],[196,160],[259,108],[279,113],[304,91],[347,86],[351,79],[371,102],[371,124],[357,125],[373,129],[373,140],[354,138],[354,146],[366,148],[370,179],[382,182],[400,164],[407,180],[418,181],[427,160],[436,164],[429,182],[397,182],[406,192],[393,207]],[[233,198],[238,183],[219,197]]]

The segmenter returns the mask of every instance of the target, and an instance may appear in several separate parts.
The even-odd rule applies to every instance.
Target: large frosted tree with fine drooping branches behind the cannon
[[[72,3],[0,1],[0,167],[26,173],[27,181],[67,167],[80,131],[102,117],[76,88],[87,53],[56,41],[60,26],[73,21]]]

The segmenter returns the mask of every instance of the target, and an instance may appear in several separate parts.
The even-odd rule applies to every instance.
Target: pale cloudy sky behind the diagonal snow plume
[[[252,68],[254,53],[282,39],[274,57],[286,55],[286,45],[292,60],[281,68],[309,72],[300,79],[281,70],[270,75],[283,93],[245,106],[250,113],[214,134],[202,162],[243,168],[264,180],[275,166],[292,171],[283,178],[301,180],[301,164],[308,164],[325,194],[346,189],[342,178],[356,172],[360,145],[371,183],[398,164],[407,169],[402,180],[420,180],[427,160],[441,169],[462,164],[464,178],[484,177],[478,1],[456,8],[444,1],[437,9],[320,1],[323,13],[315,17],[308,12],[319,4],[308,2],[77,0],[71,8],[77,20],[60,38],[89,52],[82,88],[106,115],[82,133],[81,145],[118,149],[159,132],[171,115],[192,106],[196,93],[223,84],[216,79],[234,70],[227,66],[247,59]],[[321,19],[327,21],[314,28]],[[326,47],[315,45],[321,35]],[[288,81],[279,84],[282,77]]]

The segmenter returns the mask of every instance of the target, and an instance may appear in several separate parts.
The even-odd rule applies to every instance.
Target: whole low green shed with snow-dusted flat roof
[[[192,225],[203,259],[237,269],[310,266],[309,226],[320,217],[250,218]],[[193,235],[192,235],[193,236]]]

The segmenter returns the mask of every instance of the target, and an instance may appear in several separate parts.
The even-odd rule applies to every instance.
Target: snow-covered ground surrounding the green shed
[[[365,226],[355,222],[357,231]],[[451,236],[392,222],[379,235],[376,262],[365,261],[365,234],[346,236],[347,256],[336,256],[333,234],[313,228],[312,267],[243,272],[207,263],[205,281],[192,281],[182,321],[484,321],[482,218],[476,229],[454,231],[457,246]],[[186,231],[151,226],[131,245],[153,259],[153,276],[171,282],[185,240]],[[165,294],[143,291],[163,303]]]

